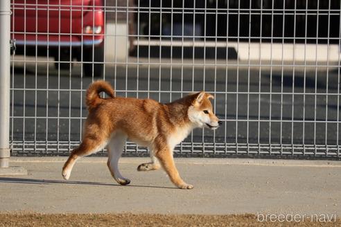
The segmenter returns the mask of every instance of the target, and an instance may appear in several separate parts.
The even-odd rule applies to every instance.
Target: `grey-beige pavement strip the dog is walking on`
[[[180,190],[163,170],[137,172],[148,158],[121,158],[130,185],[112,179],[106,158],[82,158],[69,181],[66,158],[12,158],[27,176],[0,177],[0,212],[240,213],[341,215],[338,161],[274,161],[229,158],[175,158],[193,190]]]

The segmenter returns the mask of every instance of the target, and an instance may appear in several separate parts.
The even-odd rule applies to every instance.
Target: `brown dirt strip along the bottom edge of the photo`
[[[82,214],[44,215],[38,213],[0,214],[0,226],[341,226],[333,222],[261,222],[256,215],[150,215]]]

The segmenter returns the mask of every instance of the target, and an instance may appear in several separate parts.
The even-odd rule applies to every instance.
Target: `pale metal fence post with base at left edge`
[[[0,1],[0,175],[27,174],[10,167],[10,0]]]

